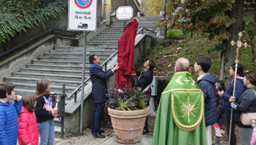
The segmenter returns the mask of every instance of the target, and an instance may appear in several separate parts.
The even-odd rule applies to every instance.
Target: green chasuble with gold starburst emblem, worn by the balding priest
[[[188,72],[175,73],[161,95],[152,145],[205,145],[204,95]]]

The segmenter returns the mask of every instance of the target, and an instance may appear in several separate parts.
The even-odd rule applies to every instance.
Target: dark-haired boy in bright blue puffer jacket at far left
[[[22,102],[21,96],[14,92],[10,82],[0,83],[0,144],[16,145],[18,135],[18,117]],[[14,104],[10,101],[14,99]]]

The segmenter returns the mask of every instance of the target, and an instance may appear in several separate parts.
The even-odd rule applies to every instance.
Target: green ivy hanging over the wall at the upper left
[[[1,0],[0,0],[1,1]],[[42,26],[49,18],[56,18],[61,13],[67,12],[68,1],[56,1],[48,3],[44,9],[37,13],[1,14],[0,13],[0,44],[10,40],[18,32],[26,31],[26,28]]]

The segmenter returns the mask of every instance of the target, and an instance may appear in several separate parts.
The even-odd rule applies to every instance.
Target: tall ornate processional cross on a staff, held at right
[[[232,46],[236,45],[237,48],[236,48],[236,60],[235,60],[235,63],[236,63],[236,66],[235,66],[235,76],[234,76],[234,86],[233,86],[233,97],[235,96],[235,90],[236,90],[236,74],[237,74],[237,64],[239,63],[239,53],[240,53],[240,48],[241,46],[243,45],[243,43],[241,42],[241,37],[242,37],[242,33],[239,32],[239,39],[237,42],[235,41],[231,41],[230,44]],[[244,43],[244,47],[247,48],[247,43],[245,42]],[[233,116],[233,108],[231,107],[231,114],[230,114],[230,124],[229,124],[229,145],[230,145],[230,141],[231,141],[231,128],[232,128],[232,116]]]

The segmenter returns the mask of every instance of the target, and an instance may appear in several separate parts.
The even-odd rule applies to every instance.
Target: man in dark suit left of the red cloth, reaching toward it
[[[92,135],[99,138],[104,138],[103,130],[100,130],[100,122],[103,115],[104,103],[107,100],[107,82],[106,79],[114,75],[114,71],[118,70],[118,64],[111,70],[104,72],[99,66],[100,58],[96,55],[89,56],[91,66],[90,77],[92,81],[92,98],[94,102],[94,111],[92,117]]]

